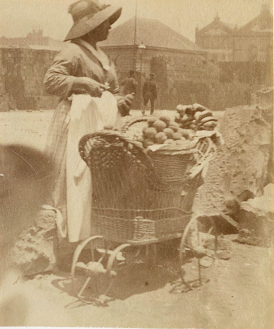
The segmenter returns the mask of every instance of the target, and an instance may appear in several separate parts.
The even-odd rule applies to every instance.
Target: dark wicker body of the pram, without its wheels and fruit
[[[123,127],[123,133],[137,119]],[[202,169],[216,147],[210,138],[183,151],[147,153],[134,140],[104,130],[84,136],[79,151],[91,170],[92,225],[112,241],[145,244],[184,231]]]

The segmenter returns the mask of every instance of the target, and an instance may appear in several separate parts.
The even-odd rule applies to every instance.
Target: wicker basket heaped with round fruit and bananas
[[[194,118],[196,113],[198,120]],[[133,135],[130,130],[137,123]],[[171,115],[135,118],[122,131],[145,149],[161,183],[172,184],[193,178],[209,163],[216,151],[216,126],[211,111],[194,104],[179,105],[174,119]]]

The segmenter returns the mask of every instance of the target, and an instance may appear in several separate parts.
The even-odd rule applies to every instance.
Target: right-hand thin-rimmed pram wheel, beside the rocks
[[[215,226],[213,220],[212,226]],[[191,268],[193,269],[193,267],[197,268],[198,279],[193,280],[193,282],[198,281],[199,285],[201,285],[201,268],[212,265],[216,259],[216,250],[217,235],[214,237],[207,233],[202,233],[199,230],[199,221],[197,217],[192,217],[185,228],[179,248],[181,276],[187,288],[192,289],[191,284],[188,284],[187,281],[184,280],[187,269],[186,264],[189,264],[189,262],[192,262],[192,260],[196,258],[197,265],[195,266],[193,263],[191,266],[188,265],[188,270]]]

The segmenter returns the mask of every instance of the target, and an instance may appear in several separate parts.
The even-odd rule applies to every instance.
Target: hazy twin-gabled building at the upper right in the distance
[[[273,15],[266,5],[240,28],[233,28],[216,16],[195,32],[196,44],[219,65],[221,81],[237,78],[254,89],[273,85]]]

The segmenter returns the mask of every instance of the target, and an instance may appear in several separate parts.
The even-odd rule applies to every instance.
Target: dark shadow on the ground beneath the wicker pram
[[[116,299],[125,300],[135,294],[156,291],[168,284],[172,286],[180,276],[177,252],[176,250],[166,250],[160,247],[157,255],[156,264],[153,264],[152,260],[148,260],[146,263],[132,263],[121,269],[112,280],[109,290],[109,281],[107,280],[108,277],[106,274],[92,277],[85,293],[83,293],[85,299],[89,300],[89,303],[93,305],[108,306],[106,301],[100,301],[100,295],[107,296],[106,300],[109,302]],[[70,274],[67,272],[55,274],[62,278],[53,280],[52,284],[70,296],[76,297]],[[79,276],[77,279],[79,279],[79,281],[76,280],[75,285],[79,283],[81,289],[81,286],[85,283],[86,277],[83,279],[82,276]],[[88,294],[90,291],[92,292],[89,298]],[[81,306],[81,304],[77,306]]]

